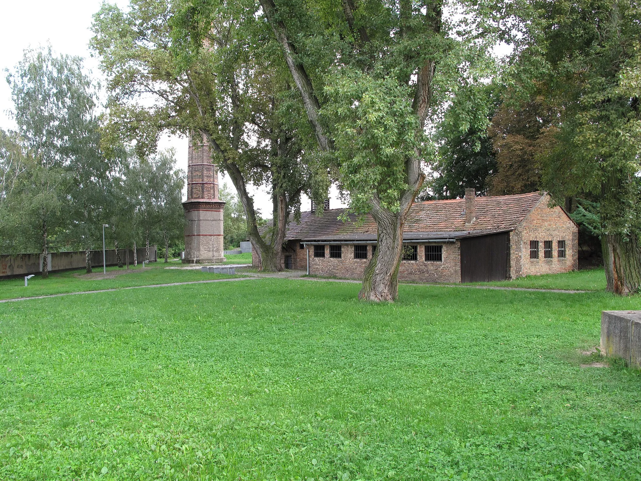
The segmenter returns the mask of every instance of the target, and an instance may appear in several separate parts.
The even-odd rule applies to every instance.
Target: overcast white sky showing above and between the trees
[[[102,78],[98,68],[99,60],[90,56],[88,42],[92,36],[89,30],[92,15],[96,13],[101,0],[0,0],[0,128],[13,129],[15,122],[10,116],[13,108],[10,89],[4,80],[5,69],[12,70],[22,58],[22,52],[29,47],[37,48],[51,43],[56,53],[78,55],[85,58],[87,71],[92,71],[96,78]],[[112,0],[121,8],[126,8],[128,0]],[[176,148],[178,167],[187,171],[187,139],[165,137],[159,147]],[[229,178],[220,176],[219,181],[226,182],[235,190]],[[337,192],[333,190],[331,207],[339,207]],[[260,208],[263,217],[271,216],[271,198],[262,187],[251,189],[254,194],[254,205]],[[310,208],[308,199],[303,201],[303,209]]]

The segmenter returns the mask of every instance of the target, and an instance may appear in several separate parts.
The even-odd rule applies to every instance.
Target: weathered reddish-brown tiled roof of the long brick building
[[[403,238],[445,239],[513,230],[544,196],[544,192],[515,196],[477,197],[476,220],[465,228],[465,199],[417,202],[410,209]],[[375,241],[376,223],[371,215],[358,223],[358,216],[348,214],[349,221],[338,219],[344,208],[326,210],[317,217],[301,212],[299,222],[287,226],[286,240],[302,241]]]

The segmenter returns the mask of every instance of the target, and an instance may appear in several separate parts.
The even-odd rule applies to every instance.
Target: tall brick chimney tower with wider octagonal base
[[[218,198],[218,170],[204,137],[199,143],[189,137],[187,154],[187,201],[185,208],[185,264],[224,262],[222,254],[222,208]]]

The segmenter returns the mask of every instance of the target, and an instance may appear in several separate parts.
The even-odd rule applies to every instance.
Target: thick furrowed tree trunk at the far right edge
[[[641,289],[641,248],[636,235],[601,235],[607,291],[629,296]]]

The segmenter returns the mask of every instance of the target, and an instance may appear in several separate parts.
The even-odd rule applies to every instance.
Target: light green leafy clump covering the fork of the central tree
[[[399,192],[408,188],[405,160],[424,139],[414,114],[410,87],[394,75],[377,78],[356,69],[329,76],[328,103],[322,109],[333,124],[337,164],[351,207],[368,212],[374,194],[392,212],[399,209]]]

